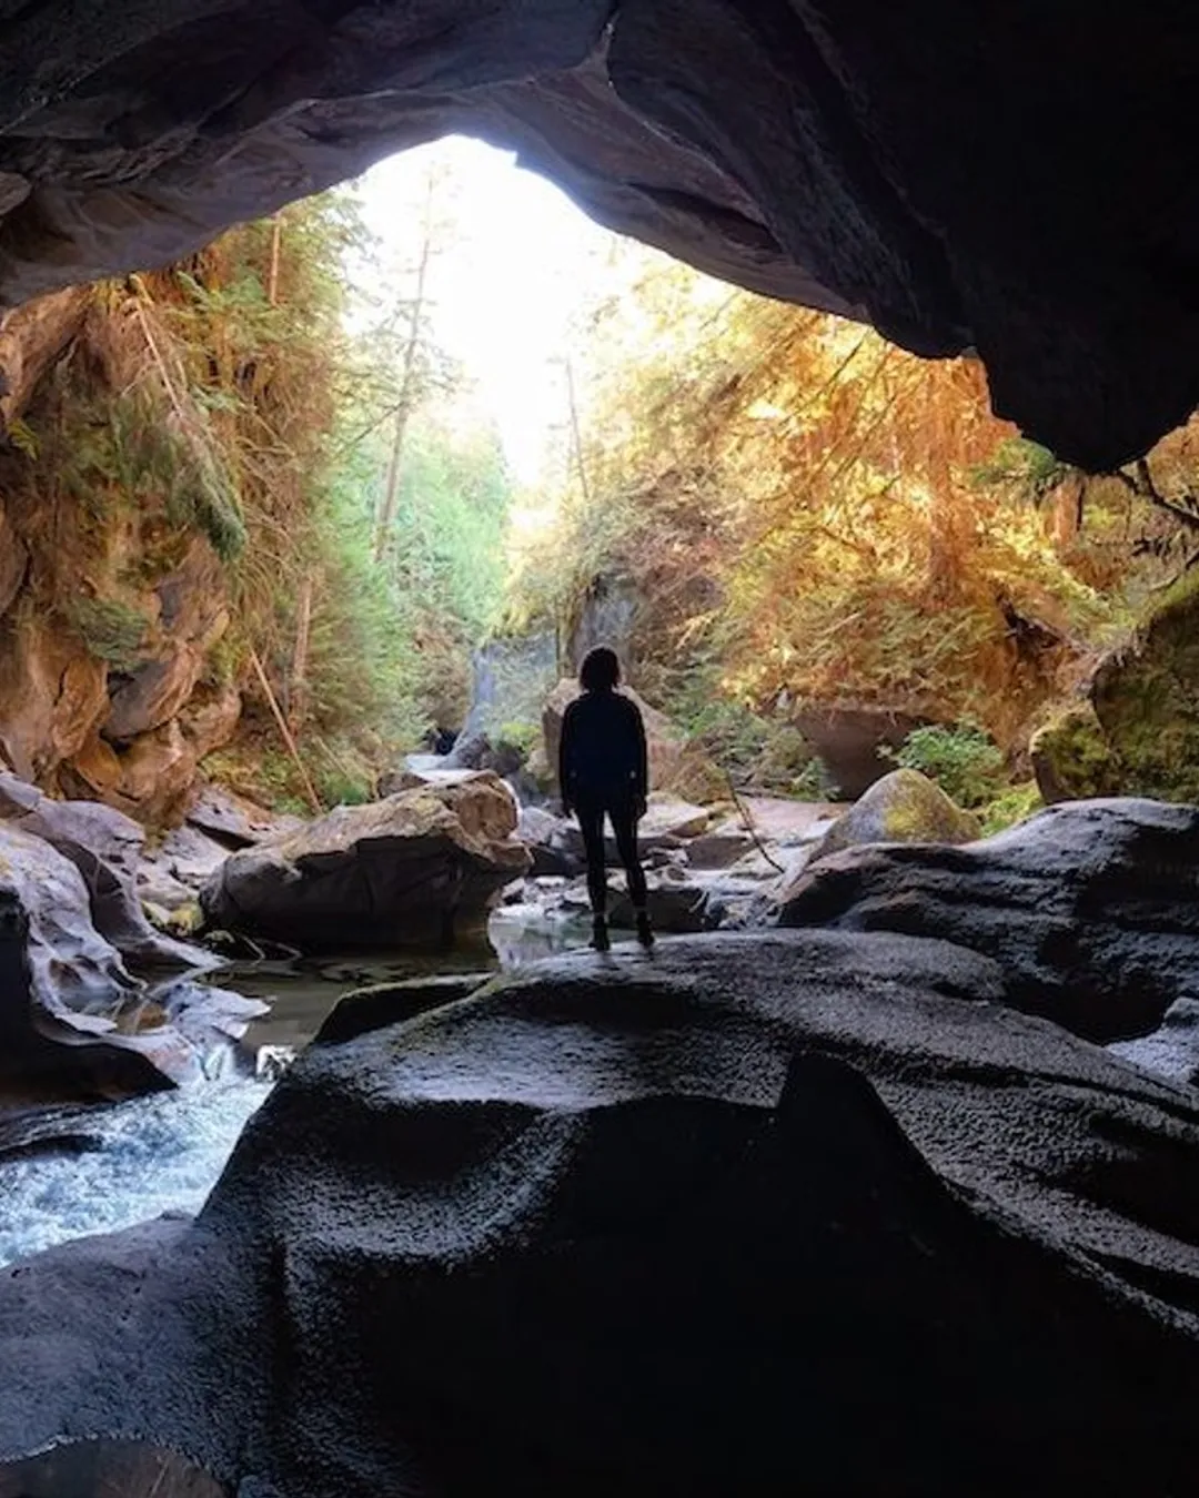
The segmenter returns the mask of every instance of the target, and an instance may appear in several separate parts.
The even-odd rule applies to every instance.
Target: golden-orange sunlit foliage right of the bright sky
[[[1021,442],[976,361],[679,267],[625,301],[600,319],[585,484],[553,545],[570,565],[543,602],[570,614],[597,572],[634,578],[661,698],[700,673],[757,710],[883,704],[1012,748],[1127,625],[1145,497]]]

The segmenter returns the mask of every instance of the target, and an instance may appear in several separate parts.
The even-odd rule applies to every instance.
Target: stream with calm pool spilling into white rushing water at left
[[[211,981],[271,1010],[255,1020],[241,1046],[247,1062],[274,1047],[303,1049],[352,989],[399,978],[520,966],[552,951],[585,945],[589,927],[576,920],[493,914],[487,942],[427,954],[322,957],[294,963],[240,963]],[[156,1092],[127,1103],[46,1110],[60,1113],[78,1152],[34,1153],[0,1161],[0,1266],[72,1237],[112,1233],[163,1212],[195,1213],[229,1158],[246,1121],[273,1082],[232,1062],[210,1082]]]

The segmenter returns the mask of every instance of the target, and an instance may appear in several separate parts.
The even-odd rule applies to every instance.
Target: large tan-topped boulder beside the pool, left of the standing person
[[[231,854],[201,906],[210,926],[301,950],[436,945],[528,872],[516,824],[498,776],[447,771]]]

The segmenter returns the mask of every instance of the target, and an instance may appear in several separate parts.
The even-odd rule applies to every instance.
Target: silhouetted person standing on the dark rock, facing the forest
[[[628,875],[628,894],[637,912],[637,941],[653,945],[646,911],[646,876],[637,858],[637,822],[646,812],[649,761],[646,728],[635,703],[616,691],[620,664],[614,652],[589,650],[579,671],[583,695],[562,718],[558,783],[562,809],[574,810],[588,854],[588,896],[592,912],[592,947],[607,951],[607,878],[604,873],[604,816],[611,821],[616,851]]]

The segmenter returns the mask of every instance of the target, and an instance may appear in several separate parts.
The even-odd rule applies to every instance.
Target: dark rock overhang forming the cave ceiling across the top
[[[1111,467],[1199,400],[1196,33],[1163,0],[49,0],[3,19],[0,301],[465,132],[703,270],[976,349],[1000,413]]]

